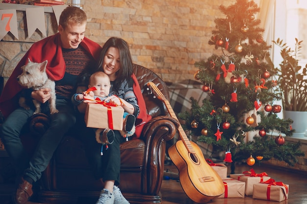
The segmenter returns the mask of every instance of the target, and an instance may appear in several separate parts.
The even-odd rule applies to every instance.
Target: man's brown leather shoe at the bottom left
[[[29,198],[32,196],[32,184],[28,181],[21,179],[21,182],[17,188],[16,194],[14,195],[14,203],[15,204],[26,204]]]

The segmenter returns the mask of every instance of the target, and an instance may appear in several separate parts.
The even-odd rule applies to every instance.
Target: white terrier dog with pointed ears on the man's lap
[[[23,73],[17,77],[18,83],[26,87],[27,89],[39,90],[49,88],[51,89],[50,94],[51,98],[49,99],[50,113],[58,113],[58,110],[55,107],[55,83],[51,80],[46,73],[46,66],[48,61],[42,63],[34,63],[28,59],[28,63],[22,67]],[[35,106],[35,112],[41,113],[41,104],[39,101],[33,99]],[[19,98],[19,105],[26,110],[29,110],[30,107],[26,105],[25,97]]]

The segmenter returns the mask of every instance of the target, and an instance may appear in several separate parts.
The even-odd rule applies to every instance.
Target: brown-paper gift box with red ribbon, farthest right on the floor
[[[289,185],[275,182],[273,179],[254,184],[253,198],[268,201],[284,201],[288,199]]]

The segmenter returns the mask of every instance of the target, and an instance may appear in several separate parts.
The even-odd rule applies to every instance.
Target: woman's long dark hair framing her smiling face
[[[116,80],[114,81],[113,85],[113,88],[117,90],[120,84],[122,84],[125,79],[128,80],[131,78],[131,75],[133,73],[132,58],[128,43],[121,38],[111,37],[102,46],[102,51],[100,53],[100,57],[97,64],[98,70],[102,70],[104,56],[110,47],[118,48],[121,62],[120,69],[116,72]]]

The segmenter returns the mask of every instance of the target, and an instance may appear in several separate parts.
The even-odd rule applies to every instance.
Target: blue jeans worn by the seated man
[[[28,119],[34,111],[18,108],[2,124],[0,136],[18,175],[26,175],[33,181],[39,180],[62,137],[75,125],[76,116],[70,100],[56,99],[56,108],[59,113],[50,115],[48,104],[42,104],[42,112],[50,115],[51,123],[46,133],[41,136],[31,158],[24,149],[20,135],[28,131]]]

